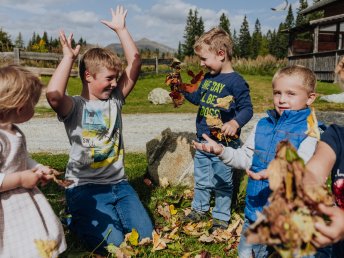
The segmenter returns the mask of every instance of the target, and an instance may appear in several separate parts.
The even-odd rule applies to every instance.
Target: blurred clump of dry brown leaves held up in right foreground
[[[272,245],[283,258],[315,253],[311,243],[317,234],[314,224],[326,223],[318,204],[333,205],[329,191],[303,183],[307,170],[289,142],[279,144],[268,170],[270,204],[247,231],[247,241]]]

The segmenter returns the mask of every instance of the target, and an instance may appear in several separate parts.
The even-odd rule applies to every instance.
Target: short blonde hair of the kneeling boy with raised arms
[[[85,79],[85,72],[88,71],[92,76],[95,76],[102,68],[117,71],[118,74],[122,71],[122,62],[119,57],[109,49],[106,48],[91,48],[82,56],[79,64],[79,74],[81,80]]]

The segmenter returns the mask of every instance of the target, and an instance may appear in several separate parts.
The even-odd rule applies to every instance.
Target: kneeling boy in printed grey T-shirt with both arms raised
[[[152,222],[124,173],[121,109],[135,86],[141,61],[126,26],[127,11],[118,6],[112,21],[102,21],[115,31],[122,43],[127,67],[103,48],[91,48],[79,65],[80,96],[67,96],[69,74],[80,46],[72,48],[72,35],[60,32],[63,59],[47,89],[47,99],[59,120],[64,122],[72,145],[66,179],[71,230],[98,254],[105,246],[119,246],[126,233],[136,229],[140,239],[151,237]],[[104,241],[103,241],[104,240]]]

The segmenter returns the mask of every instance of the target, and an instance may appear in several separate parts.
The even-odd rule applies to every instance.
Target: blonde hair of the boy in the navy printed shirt
[[[217,54],[220,50],[225,51],[228,60],[232,60],[233,42],[229,34],[224,29],[215,27],[208,32],[205,32],[196,40],[193,46],[195,53],[199,52],[205,46],[207,46],[208,50],[214,54]]]

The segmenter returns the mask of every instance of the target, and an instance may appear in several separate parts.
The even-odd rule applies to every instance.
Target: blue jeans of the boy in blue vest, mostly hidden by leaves
[[[252,252],[254,253],[255,258],[269,257],[269,255],[271,255],[274,251],[272,247],[268,245],[264,245],[264,244],[247,243],[245,232],[252,223],[253,222],[250,221],[249,219],[247,218],[244,219],[244,225],[242,227],[242,231],[240,234],[240,243],[238,247],[239,258],[252,257]]]

